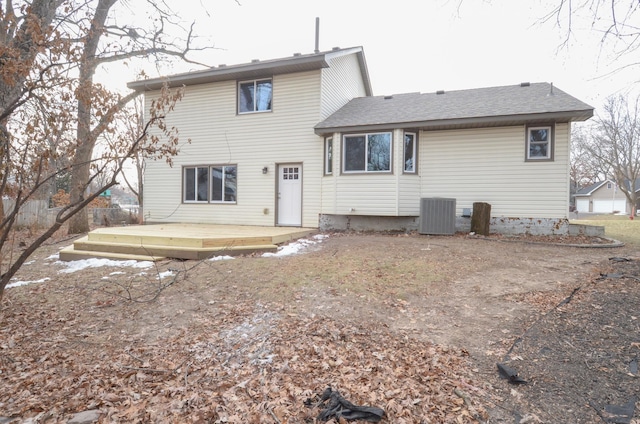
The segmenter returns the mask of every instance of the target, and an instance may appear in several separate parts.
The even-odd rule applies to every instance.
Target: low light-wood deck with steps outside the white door
[[[278,244],[305,237],[315,228],[249,225],[152,224],[91,231],[60,251],[60,260],[87,258],[157,261],[273,252]]]

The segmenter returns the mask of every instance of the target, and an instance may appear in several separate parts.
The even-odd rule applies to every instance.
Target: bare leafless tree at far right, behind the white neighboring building
[[[603,109],[583,146],[625,194],[633,217],[640,190],[640,97],[610,97]]]

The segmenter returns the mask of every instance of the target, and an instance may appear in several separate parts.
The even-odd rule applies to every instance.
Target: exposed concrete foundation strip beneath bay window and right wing
[[[320,215],[319,227],[322,231],[416,231],[417,216],[360,216],[360,215]],[[456,231],[468,233],[471,218],[456,217]],[[494,234],[530,235],[588,235],[604,236],[604,227],[569,224],[565,218],[491,218],[490,231]]]

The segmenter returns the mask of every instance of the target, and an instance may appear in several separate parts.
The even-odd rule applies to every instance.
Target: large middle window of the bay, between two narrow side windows
[[[391,133],[345,135],[342,171],[391,172]]]

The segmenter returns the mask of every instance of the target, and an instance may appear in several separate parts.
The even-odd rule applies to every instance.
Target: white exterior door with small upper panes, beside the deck
[[[278,166],[278,225],[302,226],[302,164]]]

